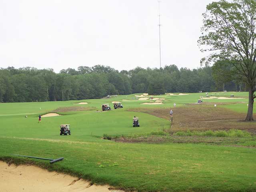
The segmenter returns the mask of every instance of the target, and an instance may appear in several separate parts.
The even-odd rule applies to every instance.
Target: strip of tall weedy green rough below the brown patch
[[[193,144],[214,144],[214,145],[232,145],[244,147],[256,147],[256,136],[244,130],[220,130],[220,131],[186,131],[168,133],[163,131],[151,132],[144,135],[129,136],[110,136],[103,135],[103,139],[113,140],[124,143],[193,143]]]

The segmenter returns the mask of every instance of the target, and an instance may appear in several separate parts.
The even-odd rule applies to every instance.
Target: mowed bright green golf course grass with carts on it
[[[231,93],[220,92],[218,96],[229,94]],[[246,112],[247,93],[233,94],[244,99],[212,99],[204,102],[232,102],[224,107]],[[32,161],[50,170],[65,171],[92,182],[107,183],[125,190],[256,190],[256,148],[204,144],[132,144],[100,138],[103,134],[125,136],[168,128],[168,120],[149,114],[128,112],[127,109],[169,108],[173,106],[173,102],[176,102],[177,107],[183,106],[195,103],[205,93],[156,96],[166,98],[163,105],[140,105],[149,100],[133,100],[135,95],[140,94],[82,100],[79,102],[88,102],[84,106],[96,109],[64,112],[61,113],[62,116],[42,118],[42,123],[38,123],[38,114],[51,112],[59,107],[74,106],[78,101],[0,104],[0,158],[7,159],[11,157],[10,154],[46,158],[63,156],[62,162],[51,165],[48,161]],[[122,101],[123,99],[129,101]],[[102,103],[111,101],[121,101],[124,108],[96,112],[101,110]],[[233,104],[234,102],[238,104]],[[26,114],[28,118],[24,118]],[[139,128],[132,127],[133,116],[140,118]],[[72,135],[60,136],[60,124],[70,124]]]

